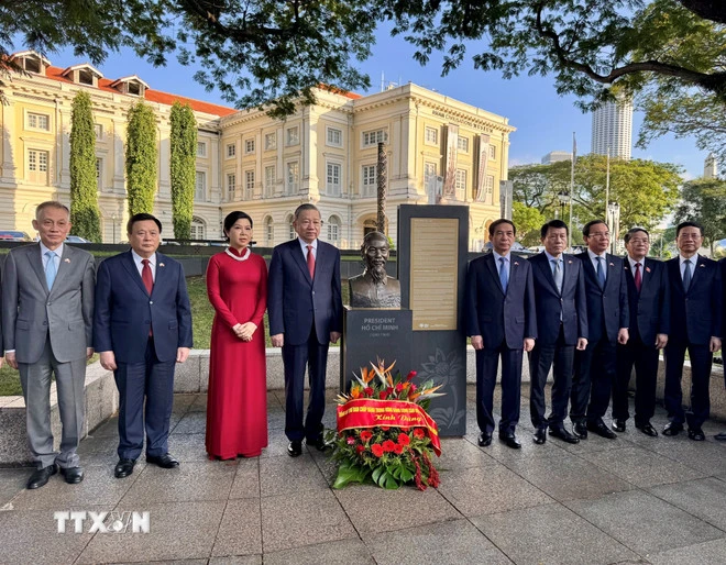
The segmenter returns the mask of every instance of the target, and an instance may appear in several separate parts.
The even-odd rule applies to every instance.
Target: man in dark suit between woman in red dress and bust
[[[302,439],[320,451],[326,410],[326,367],[329,343],[340,339],[343,302],[340,289],[340,252],[318,240],[322,222],[312,204],[295,210],[293,226],[298,237],[277,245],[270,262],[267,311],[270,335],[283,348],[285,366],[285,434],[287,453],[297,457]],[[305,369],[310,401],[302,418]]]

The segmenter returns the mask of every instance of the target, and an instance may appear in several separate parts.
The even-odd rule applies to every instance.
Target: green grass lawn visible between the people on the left
[[[343,282],[342,287],[343,303],[348,303],[348,284]],[[187,289],[189,291],[189,302],[191,303],[194,347],[195,350],[208,350],[215,310],[207,299],[207,282],[205,277],[187,278]],[[267,347],[272,347],[268,329],[267,314],[265,313],[265,342]],[[340,345],[340,342],[338,345]],[[89,363],[94,363],[96,359],[98,359],[98,355],[94,355]],[[3,364],[2,368],[0,368],[0,396],[15,395],[22,395],[20,377],[15,369],[11,368],[8,364]]]

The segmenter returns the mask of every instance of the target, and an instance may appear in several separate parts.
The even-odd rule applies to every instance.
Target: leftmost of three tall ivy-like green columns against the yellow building
[[[74,98],[70,121],[70,223],[76,235],[100,243],[96,130],[88,92]]]

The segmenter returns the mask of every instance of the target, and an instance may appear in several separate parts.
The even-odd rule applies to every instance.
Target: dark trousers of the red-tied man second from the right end
[[[653,344],[645,344],[640,337],[631,336],[626,345],[617,345],[616,376],[613,384],[613,419],[627,420],[628,384],[632,367],[636,369],[637,424],[645,424],[656,413],[656,385],[658,384],[658,357],[660,352]]]

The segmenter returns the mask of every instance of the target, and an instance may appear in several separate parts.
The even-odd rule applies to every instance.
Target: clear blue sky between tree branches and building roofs
[[[18,51],[21,48],[16,45]],[[504,80],[499,73],[475,70],[471,62],[464,63],[447,77],[441,77],[440,59],[431,57],[431,62],[421,67],[414,60],[413,53],[414,48],[402,37],[391,37],[385,31],[380,32],[373,55],[360,64],[371,76],[372,88],[369,93],[381,89],[383,74],[386,82],[411,81],[508,118],[509,123],[517,128],[510,137],[510,166],[539,163],[550,151],[571,151],[573,132],[578,139],[578,153],[590,152],[590,114],[583,114],[574,106],[574,97],[558,96],[549,77],[522,76]],[[74,57],[72,49],[50,54],[50,58],[55,66],[82,63]],[[154,68],[127,49],[111,54],[99,65],[99,70],[107,78],[136,74],[154,89],[229,106],[218,91],[207,92],[194,81],[194,68],[183,67],[174,58],[170,58],[167,67]],[[636,112],[634,143],[641,121],[642,115]],[[645,151],[634,147],[632,157],[678,164],[684,169],[684,178],[690,179],[703,175],[706,154],[696,149],[692,139],[666,136],[651,143]]]

